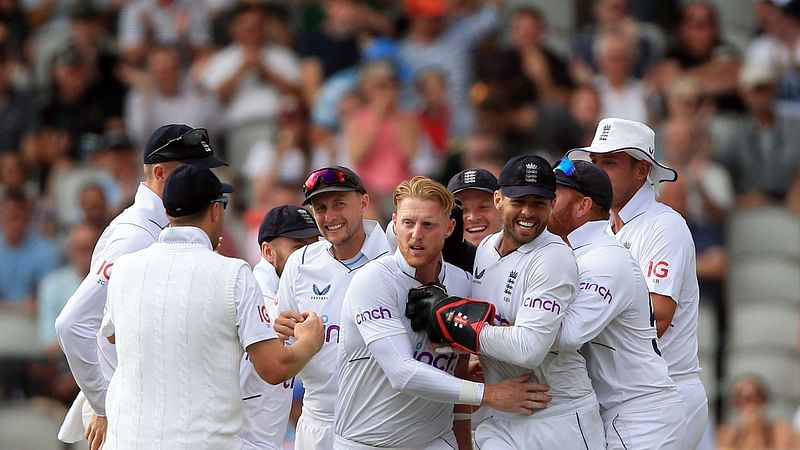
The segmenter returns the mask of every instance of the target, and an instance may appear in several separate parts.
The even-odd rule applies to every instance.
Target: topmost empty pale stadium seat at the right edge
[[[800,261],[800,216],[778,207],[736,211],[728,242],[732,261],[761,256]]]

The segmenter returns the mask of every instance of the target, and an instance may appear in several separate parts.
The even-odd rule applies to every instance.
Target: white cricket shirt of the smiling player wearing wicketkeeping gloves
[[[577,350],[558,349],[561,321],[578,291],[572,250],[544,230],[501,257],[497,248],[502,236],[502,231],[489,235],[478,246],[472,279],[472,297],[497,308],[494,326],[481,332],[486,383],[533,373],[538,382],[550,386],[553,398],[534,418],[564,414],[582,400],[596,402],[583,356]],[[487,415],[491,414],[508,415],[490,409]]]

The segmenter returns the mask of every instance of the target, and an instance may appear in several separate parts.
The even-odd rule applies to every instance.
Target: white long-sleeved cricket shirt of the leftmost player
[[[161,198],[140,184],[133,205],[114,218],[100,235],[89,273],[56,319],[58,342],[72,375],[99,415],[105,415],[108,381],[117,367],[114,345],[97,334],[111,268],[120,256],[152,245],[168,224]]]

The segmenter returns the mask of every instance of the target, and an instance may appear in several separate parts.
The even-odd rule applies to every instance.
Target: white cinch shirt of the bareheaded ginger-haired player
[[[453,374],[458,355],[435,352],[427,333],[413,331],[405,316],[408,291],[422,284],[415,274],[398,250],[364,266],[350,284],[342,308],[337,436],[376,447],[421,448],[452,433],[455,401],[436,402],[394,389],[367,348],[381,338],[400,336],[408,339],[419,363]],[[469,275],[463,270],[443,262],[438,280],[450,295],[469,297]]]

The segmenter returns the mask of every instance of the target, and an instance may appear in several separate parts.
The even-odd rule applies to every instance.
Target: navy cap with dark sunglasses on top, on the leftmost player
[[[179,124],[159,127],[144,147],[145,164],[167,161],[182,161],[209,169],[228,165],[214,156],[205,128]]]

